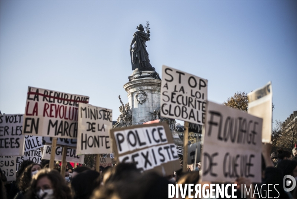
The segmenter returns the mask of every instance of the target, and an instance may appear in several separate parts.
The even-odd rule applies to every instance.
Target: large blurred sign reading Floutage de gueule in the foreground
[[[202,181],[261,182],[262,119],[207,102],[202,152]]]

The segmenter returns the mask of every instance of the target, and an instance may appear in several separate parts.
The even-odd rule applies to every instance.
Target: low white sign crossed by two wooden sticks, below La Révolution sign
[[[65,146],[66,147],[66,146]],[[55,149],[55,158],[56,161],[62,161],[62,146],[57,146]],[[49,160],[51,154],[51,146],[45,145],[44,151],[42,154],[42,159]],[[76,163],[84,163],[85,155],[76,155],[76,149],[73,148],[67,148],[66,153],[66,162],[76,162]]]

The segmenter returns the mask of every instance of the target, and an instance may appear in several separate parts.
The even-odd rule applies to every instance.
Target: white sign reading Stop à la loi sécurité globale
[[[207,80],[162,66],[161,116],[204,124]]]

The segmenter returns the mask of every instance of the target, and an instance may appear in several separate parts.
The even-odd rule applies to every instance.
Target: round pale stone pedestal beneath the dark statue
[[[151,70],[135,70],[130,76],[131,81],[124,85],[132,110],[132,125],[153,120],[150,113],[160,109],[161,80],[156,79],[156,74]]]

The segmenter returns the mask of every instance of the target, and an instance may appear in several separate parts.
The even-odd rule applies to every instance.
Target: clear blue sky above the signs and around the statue
[[[28,86],[87,95],[119,115],[129,46],[150,22],[152,66],[208,79],[208,99],[272,81],[273,118],[297,110],[297,0],[1,0],[0,111],[25,112]]]

